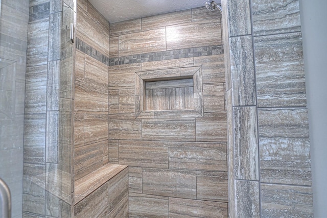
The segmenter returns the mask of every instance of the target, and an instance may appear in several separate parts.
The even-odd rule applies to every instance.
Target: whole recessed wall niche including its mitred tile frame
[[[201,66],[135,72],[135,117],[203,117]]]

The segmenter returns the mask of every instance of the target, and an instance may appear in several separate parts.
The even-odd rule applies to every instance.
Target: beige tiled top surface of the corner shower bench
[[[122,172],[126,167],[127,165],[107,163],[96,171],[75,181],[74,205],[85,199],[96,189]]]

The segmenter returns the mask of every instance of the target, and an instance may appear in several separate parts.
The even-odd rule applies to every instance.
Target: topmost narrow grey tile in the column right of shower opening
[[[231,0],[227,5],[229,36],[251,34],[249,0]]]

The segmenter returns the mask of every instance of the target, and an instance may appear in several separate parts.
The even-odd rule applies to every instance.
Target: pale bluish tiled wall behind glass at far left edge
[[[12,217],[21,217],[29,1],[0,5],[0,178],[11,190]]]

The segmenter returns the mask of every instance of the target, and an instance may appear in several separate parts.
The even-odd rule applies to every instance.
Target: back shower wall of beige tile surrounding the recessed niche
[[[221,34],[220,13],[204,7],[110,24],[109,162],[129,166],[130,217],[227,216]],[[160,107],[140,106],[138,78],[169,86],[197,70],[203,115],[170,107],[183,103],[174,88],[153,91]]]

